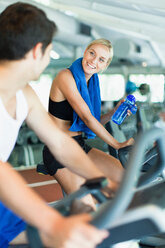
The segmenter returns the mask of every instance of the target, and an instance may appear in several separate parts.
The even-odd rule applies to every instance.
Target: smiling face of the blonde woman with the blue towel
[[[84,73],[92,76],[94,73],[104,70],[107,67],[109,58],[108,47],[102,44],[93,44],[84,52],[82,60]]]

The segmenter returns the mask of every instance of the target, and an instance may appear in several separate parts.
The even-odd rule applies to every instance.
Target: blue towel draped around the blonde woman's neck
[[[77,59],[69,67],[72,75],[75,79],[78,91],[80,92],[82,98],[88,105],[92,115],[100,122],[101,115],[101,97],[100,97],[100,86],[99,78],[97,73],[93,74],[89,80],[87,87],[87,82],[82,67],[82,58]],[[69,129],[70,131],[82,131],[85,133],[88,139],[92,139],[96,136],[95,133],[90,130],[77,113],[73,110],[73,124]]]

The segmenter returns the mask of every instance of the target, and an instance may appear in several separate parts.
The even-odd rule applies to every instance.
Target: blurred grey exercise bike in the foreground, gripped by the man
[[[63,215],[70,214],[70,206],[74,199],[92,194],[100,202],[96,212],[92,214],[91,224],[97,228],[110,230],[110,236],[100,244],[99,248],[107,248],[110,245],[132,240],[142,239],[149,235],[165,232],[165,200],[157,204],[157,190],[159,197],[165,199],[163,187],[165,182],[159,182],[150,187],[148,180],[143,179],[143,187],[137,188],[141,166],[143,164],[146,147],[149,143],[157,142],[158,159],[154,167],[162,171],[165,167],[165,133],[158,128],[153,128],[140,134],[128,159],[128,166],[113,199],[106,199],[101,188],[106,186],[106,179],[87,181],[82,187],[57,202],[52,207]],[[149,194],[149,192],[152,194]],[[142,197],[144,196],[144,197]],[[154,199],[154,200],[152,200]],[[150,201],[152,204],[150,206]],[[164,218],[164,221],[162,221]],[[27,227],[28,239],[31,248],[43,247],[37,229]]]

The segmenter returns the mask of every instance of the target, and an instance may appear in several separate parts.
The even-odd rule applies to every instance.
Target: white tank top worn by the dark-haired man
[[[17,140],[19,129],[28,114],[28,105],[23,92],[16,93],[16,119],[6,111],[0,98],[0,160],[7,161]]]

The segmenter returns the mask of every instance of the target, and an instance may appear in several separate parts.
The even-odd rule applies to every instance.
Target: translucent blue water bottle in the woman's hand
[[[120,125],[127,116],[128,110],[130,110],[132,114],[136,114],[137,107],[135,102],[135,97],[133,95],[128,95],[125,101],[120,104],[116,112],[112,115],[112,121]]]

